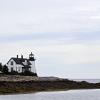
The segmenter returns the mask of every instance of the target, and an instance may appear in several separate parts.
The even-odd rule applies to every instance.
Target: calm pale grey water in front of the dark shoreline
[[[100,89],[0,95],[0,100],[100,100]]]

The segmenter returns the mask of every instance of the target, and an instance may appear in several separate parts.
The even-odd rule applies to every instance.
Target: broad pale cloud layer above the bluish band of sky
[[[0,34],[100,31],[98,0],[0,0]]]

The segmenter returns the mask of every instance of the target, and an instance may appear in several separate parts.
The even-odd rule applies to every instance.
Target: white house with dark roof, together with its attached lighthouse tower
[[[6,64],[8,66],[9,72],[17,71],[18,73],[30,71],[32,69],[32,72],[36,74],[36,68],[35,68],[35,58],[34,54],[29,54],[29,59],[24,58],[23,55],[21,55],[21,58],[18,57],[12,57]]]

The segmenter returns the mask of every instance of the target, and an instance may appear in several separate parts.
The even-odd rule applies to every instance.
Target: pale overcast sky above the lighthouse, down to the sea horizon
[[[0,0],[0,61],[31,51],[39,76],[100,78],[100,0]]]

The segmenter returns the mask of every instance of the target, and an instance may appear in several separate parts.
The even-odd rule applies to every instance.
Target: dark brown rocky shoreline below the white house
[[[0,76],[0,94],[69,89],[100,89],[100,83],[76,82],[56,77]]]

